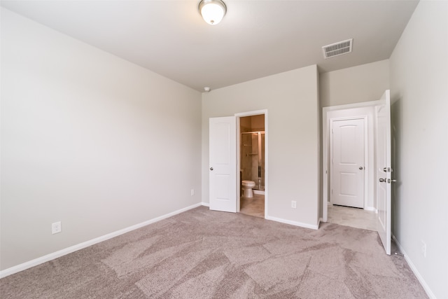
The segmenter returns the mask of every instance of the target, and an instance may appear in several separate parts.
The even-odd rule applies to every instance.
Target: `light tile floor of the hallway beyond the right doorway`
[[[330,223],[351,226],[352,228],[377,230],[377,214],[365,209],[328,205],[327,220]]]

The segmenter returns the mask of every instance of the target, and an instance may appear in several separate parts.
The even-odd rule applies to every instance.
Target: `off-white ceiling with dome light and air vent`
[[[390,57],[418,1],[224,0],[215,26],[199,0],[1,1],[80,41],[203,91],[317,64],[333,71]],[[321,47],[353,39],[353,52]]]

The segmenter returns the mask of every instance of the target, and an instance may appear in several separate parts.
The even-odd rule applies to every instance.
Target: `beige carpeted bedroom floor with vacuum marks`
[[[0,298],[427,298],[377,232],[198,207],[0,280]]]

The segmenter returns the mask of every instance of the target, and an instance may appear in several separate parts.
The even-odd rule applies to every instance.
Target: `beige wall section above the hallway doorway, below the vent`
[[[321,74],[321,106],[376,101],[389,89],[388,60]]]

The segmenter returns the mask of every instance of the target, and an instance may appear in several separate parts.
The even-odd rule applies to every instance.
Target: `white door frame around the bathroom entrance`
[[[268,171],[268,139],[269,139],[269,134],[268,134],[268,130],[267,130],[267,109],[263,109],[263,110],[256,110],[256,111],[247,111],[247,112],[241,112],[241,113],[235,113],[235,117],[237,118],[237,213],[239,212],[240,209],[240,199],[241,199],[241,186],[239,186],[239,181],[241,180],[240,176],[239,176],[239,172],[241,169],[241,151],[240,151],[240,147],[241,147],[241,127],[240,127],[240,121],[239,118],[241,117],[246,117],[246,116],[258,116],[260,114],[264,114],[265,115],[265,219],[267,218],[268,212],[267,212],[267,200],[268,200],[268,193],[269,193],[269,171]]]

